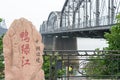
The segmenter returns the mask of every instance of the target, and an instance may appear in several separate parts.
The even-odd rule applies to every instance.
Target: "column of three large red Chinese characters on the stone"
[[[29,47],[29,34],[27,32],[27,30],[25,30],[24,32],[20,33],[20,38],[23,41],[23,44],[20,46],[20,50],[22,52],[22,67],[24,67],[25,65],[30,65],[30,60],[27,58],[27,56],[30,53],[30,47]]]

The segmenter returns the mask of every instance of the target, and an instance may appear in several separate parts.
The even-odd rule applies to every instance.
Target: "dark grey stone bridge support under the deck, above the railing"
[[[46,50],[77,50],[76,37],[43,36]]]

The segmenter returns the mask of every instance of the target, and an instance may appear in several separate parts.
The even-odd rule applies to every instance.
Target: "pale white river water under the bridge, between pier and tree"
[[[78,50],[95,50],[97,48],[102,50],[104,47],[107,46],[107,41],[104,38],[77,38]]]

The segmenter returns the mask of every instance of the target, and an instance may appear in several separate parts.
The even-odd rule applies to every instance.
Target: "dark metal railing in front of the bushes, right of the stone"
[[[49,75],[46,75],[46,80],[120,78],[119,50],[45,50],[44,64],[46,56],[49,57]]]

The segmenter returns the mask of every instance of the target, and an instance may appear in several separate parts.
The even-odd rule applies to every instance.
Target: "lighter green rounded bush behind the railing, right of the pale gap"
[[[90,56],[88,63],[85,65],[84,71],[86,75],[91,76],[92,78],[105,78],[103,75],[106,75],[106,65],[105,58],[102,56],[103,52],[96,50],[95,56]]]

